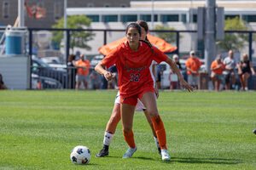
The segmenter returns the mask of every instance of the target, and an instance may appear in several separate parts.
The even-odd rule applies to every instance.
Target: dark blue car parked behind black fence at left
[[[67,87],[67,71],[60,71],[54,67],[50,67],[41,59],[32,58],[32,73],[39,77],[49,77],[61,82],[62,88]]]

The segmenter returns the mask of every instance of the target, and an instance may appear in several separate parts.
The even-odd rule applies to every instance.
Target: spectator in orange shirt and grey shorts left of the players
[[[90,62],[81,54],[80,59],[76,62],[76,66],[79,68],[76,76],[76,89],[79,89],[81,82],[84,82],[84,88],[88,88],[89,74],[90,74]]]

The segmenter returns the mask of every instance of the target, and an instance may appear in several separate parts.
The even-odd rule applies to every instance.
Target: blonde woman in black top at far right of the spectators
[[[241,61],[237,64],[238,75],[241,82],[241,89],[248,90],[248,78],[255,75],[252,62],[248,59],[247,54],[242,54]]]

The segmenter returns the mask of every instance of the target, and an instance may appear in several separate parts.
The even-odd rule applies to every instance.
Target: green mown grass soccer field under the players
[[[157,153],[148,122],[136,112],[137,152],[117,128],[110,154],[96,158],[116,91],[0,91],[0,169],[256,169],[255,92],[160,92],[170,162]],[[76,145],[90,148],[74,165]]]

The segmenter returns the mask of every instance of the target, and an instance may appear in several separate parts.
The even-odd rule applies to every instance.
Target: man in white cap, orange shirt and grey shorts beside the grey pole
[[[199,70],[201,67],[200,60],[196,57],[195,51],[190,51],[190,58],[186,60],[186,68],[188,73],[188,82],[195,89],[198,89]]]

